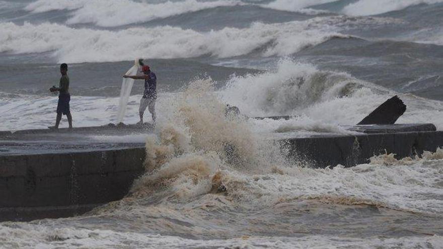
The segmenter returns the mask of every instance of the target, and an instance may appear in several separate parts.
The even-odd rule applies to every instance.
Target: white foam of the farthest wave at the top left
[[[75,10],[67,20],[68,24],[94,23],[102,27],[116,27],[204,9],[241,4],[242,2],[234,0],[210,2],[185,0],[181,2],[168,1],[158,4],[134,2],[130,0],[38,0],[29,4],[25,10],[33,13],[53,10]]]

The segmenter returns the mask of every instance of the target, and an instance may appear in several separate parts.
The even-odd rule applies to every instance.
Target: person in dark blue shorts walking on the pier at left
[[[52,87],[49,89],[51,92],[58,91],[58,104],[57,104],[57,118],[55,119],[55,126],[49,128],[58,129],[60,124],[61,115],[66,115],[67,122],[69,123],[69,129],[72,129],[72,116],[69,110],[69,101],[71,99],[69,95],[69,77],[67,76],[67,64],[62,63],[60,65],[60,82],[58,88]]]

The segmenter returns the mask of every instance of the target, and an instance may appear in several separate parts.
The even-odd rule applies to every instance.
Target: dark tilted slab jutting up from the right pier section
[[[369,124],[394,124],[397,119],[406,111],[406,105],[398,96],[387,100],[377,107],[370,115],[367,115],[357,125]]]

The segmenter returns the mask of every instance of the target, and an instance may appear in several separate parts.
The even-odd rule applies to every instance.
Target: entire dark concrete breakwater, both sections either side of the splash
[[[106,134],[115,132],[106,129]],[[91,130],[96,134],[100,129]],[[443,131],[435,131],[431,124],[350,130],[366,134],[279,138],[276,143],[289,158],[316,168],[352,167],[378,154],[395,153],[402,158],[443,147]],[[42,138],[55,138],[46,130],[0,134],[4,149],[0,151],[0,221],[82,214],[123,198],[134,179],[144,173],[142,143],[97,145],[87,138],[88,129],[54,132],[60,140],[51,140],[49,145]],[[67,147],[66,141],[70,142]]]

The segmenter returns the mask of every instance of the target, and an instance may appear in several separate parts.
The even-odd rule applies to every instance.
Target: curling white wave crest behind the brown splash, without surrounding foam
[[[286,115],[351,96],[361,84],[346,73],[320,71],[315,66],[284,59],[274,71],[232,78],[224,98],[254,115]]]

